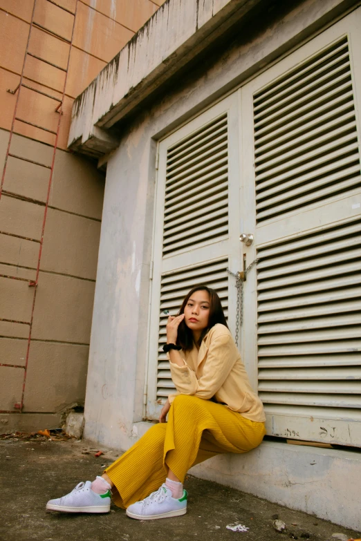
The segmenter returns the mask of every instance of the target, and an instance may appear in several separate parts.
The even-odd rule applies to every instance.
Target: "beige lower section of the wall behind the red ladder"
[[[9,132],[0,130],[1,155],[6,152],[8,138]],[[45,164],[52,155],[51,147],[21,135],[13,136],[12,150]],[[48,176],[44,168],[9,158],[3,187],[44,200]],[[57,150],[24,409],[21,415],[0,415],[4,430],[59,426],[58,414],[66,406],[84,402],[103,194],[103,175],[91,162]],[[39,243],[12,235],[39,240],[43,216],[44,205],[3,193],[0,274],[35,280]],[[30,321],[32,304],[33,288],[28,282],[0,278],[0,319]],[[28,334],[28,325],[0,321],[1,364],[25,366]],[[21,401],[23,380],[23,369],[0,366],[0,410],[14,410],[15,403]],[[26,421],[19,417],[26,417]]]

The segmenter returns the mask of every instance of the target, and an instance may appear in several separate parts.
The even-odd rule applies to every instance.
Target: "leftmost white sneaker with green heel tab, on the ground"
[[[46,509],[64,513],[109,513],[111,492],[97,494],[91,490],[91,482],[79,483],[66,496],[49,500]]]

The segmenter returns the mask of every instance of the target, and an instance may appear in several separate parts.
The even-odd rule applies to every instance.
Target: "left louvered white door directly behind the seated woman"
[[[167,316],[205,283],[221,296],[230,327],[235,296],[228,266],[239,267],[237,95],[223,100],[159,144],[151,292],[147,416],[156,419],[174,390],[162,346]],[[231,284],[232,286],[232,284]]]

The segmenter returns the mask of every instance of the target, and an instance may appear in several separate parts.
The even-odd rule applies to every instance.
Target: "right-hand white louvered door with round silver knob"
[[[243,341],[248,364],[258,357],[253,383],[267,431],[353,446],[361,446],[360,25],[359,9],[241,91],[244,229],[255,239],[246,256],[259,258],[257,283],[245,287]]]

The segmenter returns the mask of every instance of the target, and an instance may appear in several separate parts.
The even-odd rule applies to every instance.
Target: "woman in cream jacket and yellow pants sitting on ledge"
[[[261,400],[250,386],[221,301],[204,285],[185,297],[167,322],[167,352],[177,393],[126,453],[93,482],[50,500],[46,509],[107,513],[113,502],[140,520],[187,512],[189,468],[219,453],[246,453],[266,433]],[[168,421],[166,421],[168,415]]]

